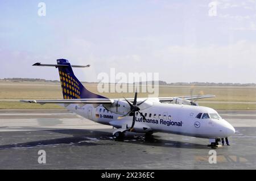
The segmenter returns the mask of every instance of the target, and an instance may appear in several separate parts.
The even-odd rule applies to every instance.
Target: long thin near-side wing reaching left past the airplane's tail
[[[50,100],[20,100],[23,103],[39,103],[39,104],[112,104],[112,99],[50,99]]]

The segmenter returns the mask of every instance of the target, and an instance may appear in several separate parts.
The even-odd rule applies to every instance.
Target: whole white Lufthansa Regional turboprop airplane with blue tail
[[[232,136],[236,131],[228,121],[221,118],[212,108],[198,106],[193,99],[211,98],[214,95],[179,96],[168,98],[108,99],[88,91],[76,78],[68,60],[59,59],[57,64],[34,66],[55,66],[59,69],[64,99],[20,100],[26,103],[55,103],[96,123],[112,125],[117,138],[126,132],[146,133],[165,132],[209,138],[212,146],[217,139]]]

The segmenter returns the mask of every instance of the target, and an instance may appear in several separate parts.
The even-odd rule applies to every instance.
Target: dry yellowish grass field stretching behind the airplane
[[[97,84],[88,83],[86,88],[97,93]],[[159,96],[190,95],[192,86],[160,86]],[[245,86],[195,86],[193,95],[214,94],[216,98],[200,100],[201,106],[224,110],[256,110],[256,87]],[[131,98],[134,93],[103,93],[108,98]],[[146,97],[146,93],[139,97]],[[0,108],[61,108],[55,104],[28,104],[10,101],[11,99],[62,99],[63,95],[59,83],[40,82],[1,82],[0,81]],[[215,103],[217,102],[217,103]],[[226,103],[229,102],[229,103]],[[236,102],[236,103],[230,103]],[[238,103],[237,103],[238,102]]]

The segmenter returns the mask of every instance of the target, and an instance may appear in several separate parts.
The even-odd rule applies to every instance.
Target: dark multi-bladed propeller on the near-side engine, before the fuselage
[[[133,131],[134,124],[135,124],[135,113],[136,112],[138,112],[143,117],[143,119],[146,119],[146,117],[143,115],[143,113],[140,112],[141,108],[139,108],[139,106],[141,106],[141,104],[143,104],[147,99],[145,99],[141,103],[137,104],[137,95],[138,95],[138,93],[136,91],[135,96],[134,96],[134,100],[133,100],[133,104],[131,104],[129,102],[129,100],[124,98],[126,100],[126,102],[130,105],[130,111],[128,113],[126,113],[126,115],[118,117],[118,119],[122,119],[123,117],[126,117],[128,115],[133,115],[133,123],[131,124],[131,128],[129,128],[129,131]]]

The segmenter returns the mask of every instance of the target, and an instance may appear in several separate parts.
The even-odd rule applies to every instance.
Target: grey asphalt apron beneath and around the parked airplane
[[[0,110],[0,169],[256,169],[256,111],[218,112],[236,134],[210,164],[207,139],[129,133],[115,140],[112,127],[65,110]]]

